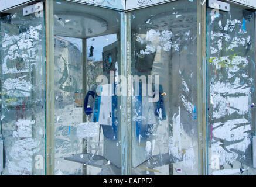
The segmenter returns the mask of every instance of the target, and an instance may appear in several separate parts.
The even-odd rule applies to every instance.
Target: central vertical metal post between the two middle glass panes
[[[128,80],[131,75],[131,12],[121,12],[121,75]],[[131,97],[121,96],[121,174],[131,175],[132,169],[132,128],[131,128]]]

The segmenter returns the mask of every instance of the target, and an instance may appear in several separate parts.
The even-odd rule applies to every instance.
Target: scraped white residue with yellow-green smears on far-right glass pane
[[[244,23],[244,22],[243,22]],[[231,165],[250,160],[245,154],[251,144],[251,103],[253,76],[250,73],[251,36],[241,20],[214,19],[210,31],[210,131],[211,156],[218,165]],[[245,169],[246,170],[246,169]],[[213,175],[231,175],[240,169],[213,171]]]

